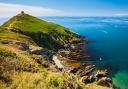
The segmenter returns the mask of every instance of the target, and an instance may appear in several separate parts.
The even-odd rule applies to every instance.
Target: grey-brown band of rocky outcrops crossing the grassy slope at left
[[[0,43],[15,45],[20,50],[27,51],[30,54],[45,56],[45,59],[52,59],[52,56],[54,54],[53,51],[50,51],[50,50],[47,50],[45,48],[38,47],[38,46],[27,45],[26,43],[23,43],[23,42],[20,42],[20,41],[1,40]]]

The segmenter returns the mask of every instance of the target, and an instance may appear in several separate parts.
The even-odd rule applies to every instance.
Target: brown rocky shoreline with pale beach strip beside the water
[[[87,50],[83,48],[89,42],[84,40],[84,37],[80,37],[81,41],[69,43],[70,46],[68,46],[68,48],[58,50],[53,56],[53,59],[56,57],[56,61],[59,61],[59,63],[57,63],[55,59],[53,60],[57,68],[61,71],[79,76],[85,84],[97,82],[97,85],[116,89],[112,84],[112,79],[107,76],[107,69],[96,70],[94,64],[80,62],[83,59],[91,60],[91,56],[84,55]]]

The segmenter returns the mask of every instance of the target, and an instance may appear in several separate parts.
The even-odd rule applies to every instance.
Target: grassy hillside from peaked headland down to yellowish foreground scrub
[[[52,53],[45,48],[57,50],[79,41],[77,36],[63,26],[25,13],[12,17],[0,26],[0,89],[74,89],[74,84],[79,85],[77,78],[47,60]],[[26,46],[28,49],[22,50]],[[32,54],[31,47],[47,54]]]

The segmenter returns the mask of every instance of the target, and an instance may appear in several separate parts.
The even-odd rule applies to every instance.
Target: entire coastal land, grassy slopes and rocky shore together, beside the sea
[[[88,44],[68,28],[20,13],[0,26],[1,89],[113,89],[107,70],[80,63]]]

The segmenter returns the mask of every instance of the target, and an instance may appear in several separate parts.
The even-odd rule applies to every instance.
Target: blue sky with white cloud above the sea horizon
[[[128,16],[128,0],[0,0],[0,17],[21,11],[35,16]]]

